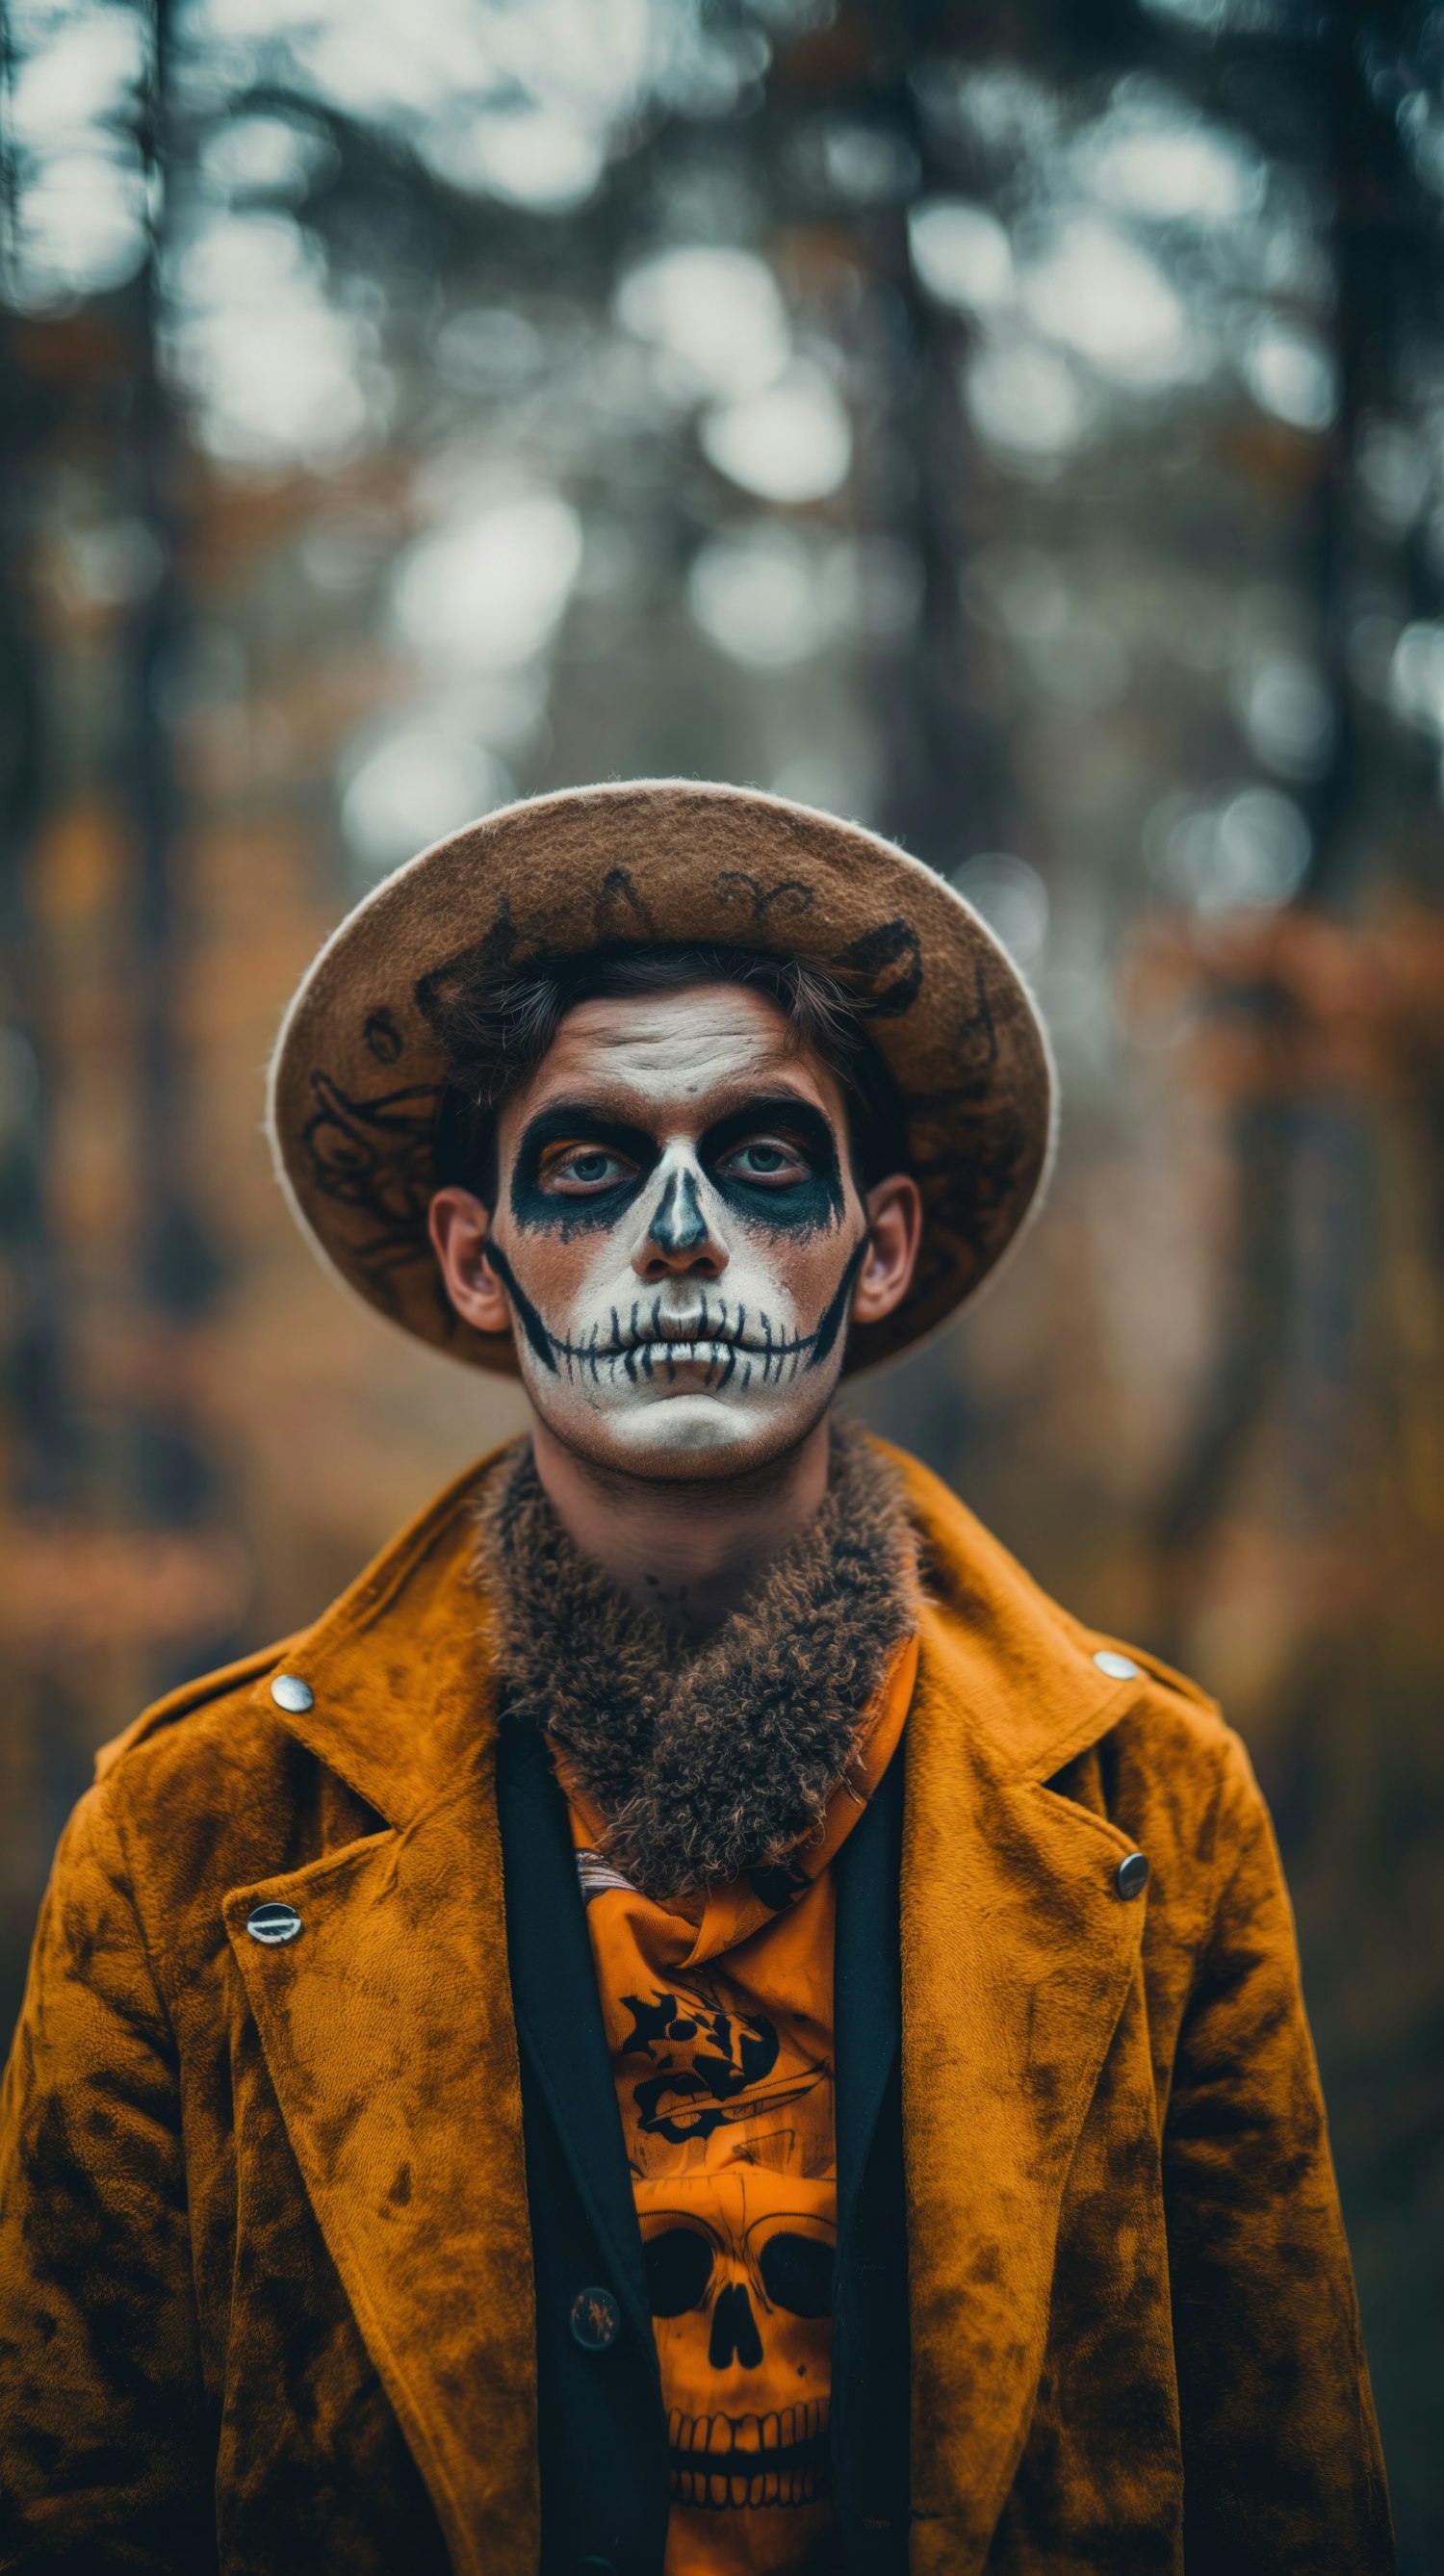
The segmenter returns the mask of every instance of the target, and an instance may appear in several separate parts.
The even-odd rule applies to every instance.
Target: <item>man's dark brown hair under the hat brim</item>
[[[819,1056],[847,1100],[860,1188],[906,1170],[903,1110],[873,1046],[862,1005],[821,966],[762,948],[613,945],[530,966],[474,966],[435,979],[425,1012],[445,1048],[438,1110],[438,1185],[497,1198],[497,1113],[528,1082],[579,1002],[741,984],[777,1005],[798,1048]]]

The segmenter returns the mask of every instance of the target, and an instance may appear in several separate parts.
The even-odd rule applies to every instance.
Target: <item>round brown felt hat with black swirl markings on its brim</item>
[[[847,1368],[932,1332],[996,1267],[1042,1188],[1053,1064],[1032,997],[952,889],[860,824],[690,778],[566,788],[396,868],[327,940],[270,1064],[270,1146],[301,1231],[378,1314],[515,1373],[453,1311],[427,1239],[445,1054],[438,987],[615,943],[759,948],[860,1002],[927,1208],[916,1278]]]

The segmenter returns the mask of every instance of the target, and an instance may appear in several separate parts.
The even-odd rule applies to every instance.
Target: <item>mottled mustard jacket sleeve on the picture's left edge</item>
[[[62,1839],[0,2097],[0,2568],[216,2566],[175,2043],[108,1785]]]

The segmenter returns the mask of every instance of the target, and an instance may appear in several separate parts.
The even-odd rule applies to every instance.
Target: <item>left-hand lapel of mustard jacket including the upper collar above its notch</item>
[[[227,1896],[291,2148],[458,2576],[533,2576],[535,2324],[471,1476],[309,1636],[286,1716],[384,1819]],[[268,1685],[257,1682],[268,1700]],[[281,1710],[273,1710],[281,1716]],[[255,1904],[296,1909],[281,1947]],[[239,2141],[245,2154],[245,2141]]]

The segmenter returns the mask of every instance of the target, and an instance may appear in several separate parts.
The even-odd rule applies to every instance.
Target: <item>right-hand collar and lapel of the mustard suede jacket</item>
[[[1133,1685],[1104,1682],[911,1463],[909,1481],[942,1574],[901,1865],[911,2566],[976,2576],[1027,2439],[1063,2184],[1143,1947],[1145,1909],[1115,1888],[1125,1837],[1045,1780]]]

